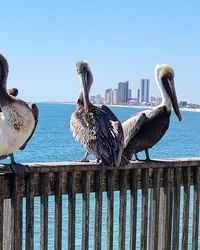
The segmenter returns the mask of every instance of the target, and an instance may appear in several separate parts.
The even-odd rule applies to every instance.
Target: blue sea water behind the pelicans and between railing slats
[[[23,152],[15,154],[17,162],[55,162],[73,161],[83,157],[85,150],[74,140],[70,131],[70,116],[76,109],[75,105],[66,104],[38,104],[39,123],[34,136]],[[112,107],[113,112],[123,121],[132,114],[141,111],[135,108]],[[174,112],[171,115],[170,128],[163,139],[150,150],[151,158],[174,158],[174,157],[200,157],[200,113],[182,112],[183,121],[179,122]],[[139,154],[143,158],[143,154]],[[192,188],[192,187],[191,187]],[[183,190],[181,190],[183,192]],[[141,192],[138,191],[138,221],[137,221],[137,249],[140,249],[140,207]],[[127,197],[129,196],[129,192]],[[94,194],[90,195],[90,245],[93,249],[94,242]],[[81,249],[81,212],[82,197],[77,195],[76,207],[76,249]],[[192,211],[191,196],[191,211]],[[35,236],[34,249],[39,249],[40,231],[40,200],[35,198]],[[182,204],[182,201],[181,201]],[[25,200],[24,200],[25,206]],[[63,197],[63,249],[67,249],[67,196]],[[182,206],[181,206],[182,207]],[[126,244],[129,244],[129,210],[130,204],[127,200],[127,233]],[[182,213],[182,210],[181,210]],[[118,216],[119,216],[119,193],[115,193],[114,211],[114,249],[118,249]],[[192,213],[191,213],[192,216]],[[25,218],[24,218],[25,229]],[[49,197],[49,249],[54,249],[54,197]],[[103,194],[103,229],[102,249],[106,250],[106,194]],[[191,218],[189,228],[189,241],[191,242]],[[181,249],[181,248],[180,248]],[[191,245],[189,245],[191,249]]]

